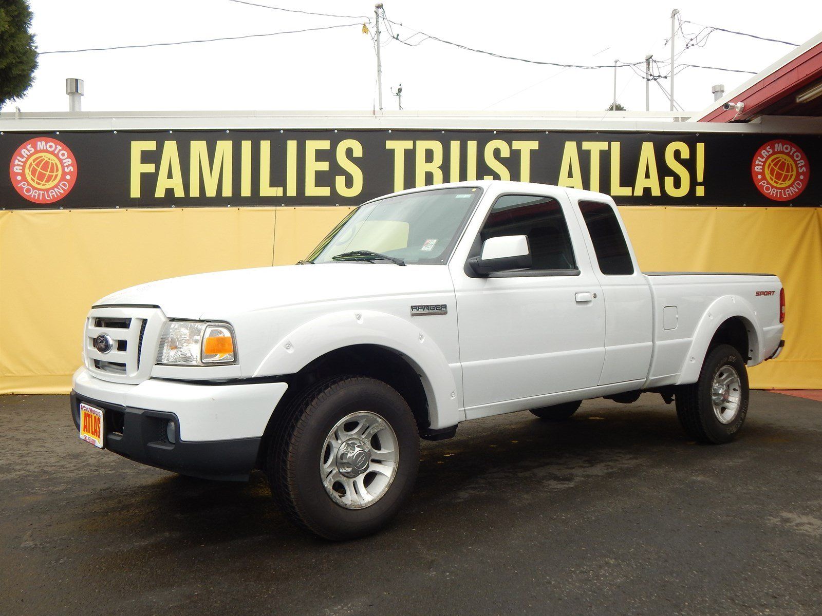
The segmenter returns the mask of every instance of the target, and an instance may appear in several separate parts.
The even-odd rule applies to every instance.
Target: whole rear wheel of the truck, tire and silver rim
[[[748,413],[748,373],[737,349],[721,344],[705,357],[700,378],[677,390],[677,417],[700,443],[732,441]]]

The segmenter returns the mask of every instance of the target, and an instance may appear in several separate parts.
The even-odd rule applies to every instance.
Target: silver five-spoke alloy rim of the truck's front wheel
[[[340,507],[362,509],[385,496],[397,472],[399,447],[389,423],[372,411],[344,416],[320,451],[320,480]]]

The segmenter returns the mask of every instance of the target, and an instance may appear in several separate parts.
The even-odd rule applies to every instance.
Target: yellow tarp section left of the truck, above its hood
[[[91,305],[219,269],[293,264],[348,207],[0,212],[0,393],[65,393]]]

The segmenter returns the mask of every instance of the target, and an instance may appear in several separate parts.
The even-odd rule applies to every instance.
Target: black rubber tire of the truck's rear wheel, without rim
[[[727,423],[719,420],[711,398],[713,381],[718,375],[723,376],[720,371],[726,369],[726,366],[736,370],[739,377],[739,385],[734,386],[738,388],[739,397],[736,415],[726,417]],[[745,423],[749,394],[745,360],[734,347],[720,344],[709,350],[702,364],[699,380],[694,384],[681,385],[677,389],[677,417],[691,439],[699,443],[729,443],[736,438],[742,424]],[[723,411],[726,409],[722,406],[723,403],[718,403],[720,412],[728,413],[727,410]]]

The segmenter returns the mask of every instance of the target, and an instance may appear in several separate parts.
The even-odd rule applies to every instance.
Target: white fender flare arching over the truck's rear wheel
[[[713,301],[702,315],[700,323],[696,326],[693,342],[691,342],[688,354],[682,364],[677,384],[695,383],[700,378],[700,370],[702,370],[702,364],[708,354],[708,346],[713,335],[717,333],[720,325],[727,319],[734,317],[741,318],[745,324],[748,332],[748,348],[751,361],[754,364],[760,362],[762,341],[759,336],[759,319],[756,317],[755,310],[742,297],[726,295]]]

